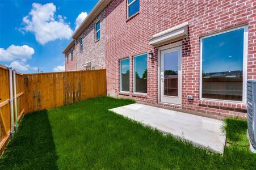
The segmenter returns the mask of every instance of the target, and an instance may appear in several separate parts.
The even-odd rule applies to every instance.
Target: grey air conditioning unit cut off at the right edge
[[[247,125],[250,150],[256,153],[256,80],[247,80]]]

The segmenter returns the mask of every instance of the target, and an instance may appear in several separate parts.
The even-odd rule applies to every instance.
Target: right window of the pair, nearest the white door
[[[147,54],[134,57],[134,92],[146,93],[147,87]]]

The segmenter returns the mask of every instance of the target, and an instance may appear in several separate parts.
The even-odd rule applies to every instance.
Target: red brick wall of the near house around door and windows
[[[256,1],[140,1],[139,14],[127,19],[127,1],[113,0],[106,8],[107,94],[129,97],[148,104],[219,116],[246,117],[246,105],[199,100],[200,37],[247,24],[249,27],[247,79],[256,78]],[[182,105],[158,103],[157,48],[149,45],[152,35],[189,22],[182,40]],[[153,50],[148,59],[148,94],[133,94],[133,56]],[[130,92],[119,92],[119,59],[130,58]],[[194,95],[194,100],[187,100]]]

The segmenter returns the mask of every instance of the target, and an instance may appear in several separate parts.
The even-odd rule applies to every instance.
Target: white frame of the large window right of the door
[[[216,35],[221,35],[226,32],[231,32],[235,31],[237,29],[244,28],[244,54],[243,54],[243,88],[242,88],[242,101],[236,101],[236,100],[221,100],[221,99],[208,99],[208,98],[203,98],[202,97],[202,59],[203,59],[203,39],[216,36]],[[247,51],[248,51],[248,25],[244,25],[241,27],[236,27],[232,29],[228,29],[226,31],[214,33],[209,36],[201,37],[200,38],[200,89],[199,89],[199,100],[210,100],[210,101],[226,101],[229,103],[246,103],[246,82],[247,82]]]

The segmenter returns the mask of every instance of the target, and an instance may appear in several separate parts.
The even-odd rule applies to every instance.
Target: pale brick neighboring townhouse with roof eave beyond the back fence
[[[75,53],[73,70],[105,69],[106,22],[104,8],[109,2],[110,0],[99,1],[75,30],[72,40]],[[73,46],[69,44],[64,49],[65,56],[68,56],[70,48]],[[70,68],[70,65],[70,63],[65,62],[65,67]],[[69,69],[65,70],[69,71]]]

